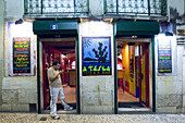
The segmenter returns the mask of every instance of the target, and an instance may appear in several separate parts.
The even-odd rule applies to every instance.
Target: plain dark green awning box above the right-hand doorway
[[[159,34],[158,22],[115,22],[114,36],[153,36]]]

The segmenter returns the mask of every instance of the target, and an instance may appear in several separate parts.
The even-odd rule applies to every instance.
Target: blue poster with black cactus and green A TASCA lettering
[[[111,75],[111,37],[83,37],[83,76]]]

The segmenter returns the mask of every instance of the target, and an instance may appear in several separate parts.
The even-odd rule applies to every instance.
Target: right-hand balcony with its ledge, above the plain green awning
[[[166,20],[166,0],[104,0],[104,16]]]

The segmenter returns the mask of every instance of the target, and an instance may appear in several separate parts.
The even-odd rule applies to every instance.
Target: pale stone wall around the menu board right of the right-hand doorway
[[[172,38],[172,37],[171,37]],[[157,45],[157,41],[156,41]],[[156,46],[156,54],[158,53]],[[172,40],[172,74],[158,74],[156,56],[156,106],[157,112],[182,113],[183,108],[183,47]]]

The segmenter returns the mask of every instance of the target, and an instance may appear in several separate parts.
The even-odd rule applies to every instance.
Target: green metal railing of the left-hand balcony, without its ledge
[[[88,0],[24,0],[25,14],[88,13]]]

